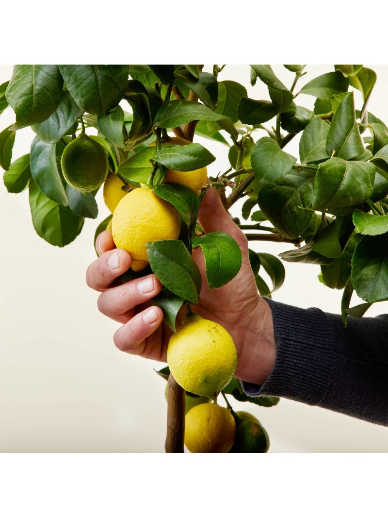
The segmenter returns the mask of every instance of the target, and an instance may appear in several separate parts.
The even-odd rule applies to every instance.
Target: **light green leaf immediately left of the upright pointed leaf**
[[[302,164],[319,163],[329,158],[326,151],[326,137],[330,125],[316,117],[305,127],[299,142],[299,155]]]

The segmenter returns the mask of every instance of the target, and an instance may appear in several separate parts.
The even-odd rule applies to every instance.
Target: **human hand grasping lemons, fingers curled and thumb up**
[[[222,207],[213,189],[209,189],[202,200],[198,221],[205,233],[222,231],[230,234],[240,246],[243,260],[232,281],[210,290],[203,254],[200,249],[194,250],[192,256],[201,271],[202,289],[198,306],[191,306],[191,309],[202,318],[218,322],[232,336],[238,357],[235,376],[262,384],[275,363],[276,341],[271,309],[257,292],[247,239]],[[123,324],[113,337],[116,347],[167,362],[172,332],[162,322],[162,310],[150,305],[150,300],[161,290],[160,281],[152,274],[117,285],[116,279],[127,271],[131,258],[125,250],[115,249],[111,231],[98,236],[96,249],[100,256],[88,267],[86,282],[101,292],[97,301],[101,313]]]

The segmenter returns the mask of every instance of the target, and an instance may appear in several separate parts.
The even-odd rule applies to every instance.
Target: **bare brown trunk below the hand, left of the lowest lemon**
[[[168,379],[166,453],[184,453],[186,393],[170,373]]]

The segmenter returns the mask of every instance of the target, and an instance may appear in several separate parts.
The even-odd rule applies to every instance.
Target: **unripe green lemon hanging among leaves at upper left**
[[[66,182],[82,194],[88,194],[105,181],[108,155],[98,142],[81,134],[66,146],[61,166]]]

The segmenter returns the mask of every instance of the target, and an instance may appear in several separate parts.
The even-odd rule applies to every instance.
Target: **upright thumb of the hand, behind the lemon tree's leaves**
[[[207,190],[198,213],[198,222],[206,234],[210,232],[227,232],[233,237],[240,236],[242,231],[232,221],[214,190]]]

